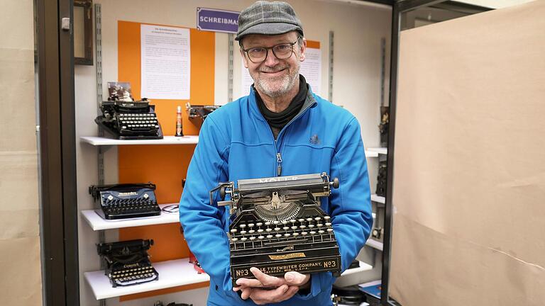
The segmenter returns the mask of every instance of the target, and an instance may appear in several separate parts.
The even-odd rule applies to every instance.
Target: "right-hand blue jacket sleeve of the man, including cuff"
[[[328,213],[341,253],[342,272],[358,256],[373,227],[365,149],[356,118],[352,118],[342,131],[329,176],[340,181],[339,187],[331,191]],[[331,273],[312,274],[311,292],[300,298],[307,300],[330,290],[334,281]]]

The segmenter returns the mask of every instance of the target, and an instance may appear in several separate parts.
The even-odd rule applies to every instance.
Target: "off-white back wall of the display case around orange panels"
[[[378,147],[378,124],[380,121],[380,39],[386,38],[387,58],[390,62],[391,11],[376,5],[346,4],[339,1],[297,0],[289,1],[301,18],[305,37],[321,42],[322,96],[328,96],[329,81],[329,31],[333,30],[334,40],[334,87],[333,101],[351,111],[362,128],[366,147]],[[223,8],[241,11],[253,1],[177,1],[177,0],[95,0],[101,4],[102,21],[102,78],[103,95],[106,97],[106,82],[117,81],[117,22],[136,21],[159,23],[172,26],[196,28],[197,7]],[[227,101],[228,34],[216,33],[215,103]],[[233,62],[233,98],[241,93],[241,58],[238,43],[235,42]],[[96,59],[95,59],[96,60]],[[386,66],[389,78],[389,65]],[[93,122],[97,115],[95,67],[78,66],[75,69],[75,92],[77,106],[77,137],[97,135]],[[387,82],[386,82],[387,84]],[[388,89],[385,96],[387,98]],[[387,103],[387,100],[386,100]],[[109,148],[105,154],[106,183],[117,180],[116,148]],[[375,190],[376,160],[370,159],[371,189]],[[87,193],[89,185],[97,183],[97,148],[81,144],[77,146],[77,176],[79,209],[93,207]],[[116,231],[106,231],[106,240],[116,239]],[[98,234],[92,232],[84,220],[79,220],[79,268],[84,271],[99,269],[99,256],[94,244]],[[81,305],[99,305],[92,292],[80,278]],[[192,302],[204,305],[207,290],[189,290],[174,295],[153,297],[145,300],[123,302],[121,305],[153,305],[155,300],[170,302]],[[117,299],[109,299],[108,305],[119,305]]]

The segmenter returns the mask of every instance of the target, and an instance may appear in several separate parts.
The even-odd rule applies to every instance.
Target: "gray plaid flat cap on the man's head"
[[[235,40],[248,34],[279,35],[297,30],[303,35],[303,26],[295,11],[286,2],[256,1],[238,16]]]

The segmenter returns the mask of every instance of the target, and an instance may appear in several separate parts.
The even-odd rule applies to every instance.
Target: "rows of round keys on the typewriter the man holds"
[[[230,229],[231,249],[249,249],[275,244],[334,241],[331,217],[307,217],[287,221],[241,223]]]

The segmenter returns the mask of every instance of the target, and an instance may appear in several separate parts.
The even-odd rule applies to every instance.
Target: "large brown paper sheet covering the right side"
[[[545,1],[400,41],[391,295],[545,305]]]

